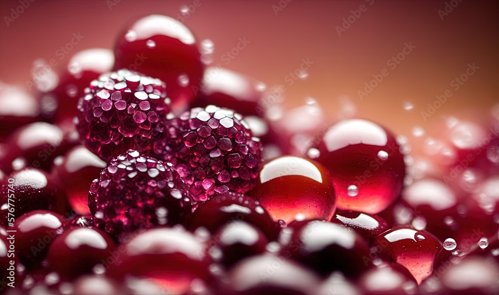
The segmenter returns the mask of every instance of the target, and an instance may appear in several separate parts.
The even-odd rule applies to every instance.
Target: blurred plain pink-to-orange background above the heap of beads
[[[157,13],[179,19],[198,42],[212,40],[214,64],[285,86],[287,107],[312,97],[335,118],[346,95],[356,117],[409,135],[449,115],[480,120],[499,101],[498,1],[31,1],[15,19],[20,2],[0,2],[4,83],[25,85],[38,58],[56,58],[60,72],[76,52],[112,48],[120,28]],[[61,55],[73,33],[83,38]],[[247,44],[228,59],[240,38]],[[447,90],[452,96],[425,117]]]

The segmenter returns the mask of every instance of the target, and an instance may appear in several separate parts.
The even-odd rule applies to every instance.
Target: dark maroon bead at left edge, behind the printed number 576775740
[[[8,179],[13,179],[9,182]],[[56,181],[45,171],[35,168],[24,168],[12,172],[2,181],[1,185],[1,221],[7,222],[8,199],[10,195],[15,203],[14,215],[20,217],[22,214],[33,210],[50,210],[65,215],[69,212],[69,204],[66,196]],[[7,194],[8,191],[8,194]]]

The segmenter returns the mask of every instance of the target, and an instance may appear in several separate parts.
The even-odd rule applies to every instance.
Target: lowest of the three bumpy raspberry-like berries
[[[92,182],[88,207],[98,227],[119,235],[179,223],[192,207],[186,191],[172,163],[128,150]]]

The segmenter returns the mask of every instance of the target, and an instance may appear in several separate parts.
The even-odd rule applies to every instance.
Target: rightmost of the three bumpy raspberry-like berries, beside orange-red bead
[[[229,190],[247,192],[255,185],[261,145],[242,119],[232,110],[208,106],[167,122],[166,137],[155,143],[155,152],[175,164],[195,201]]]

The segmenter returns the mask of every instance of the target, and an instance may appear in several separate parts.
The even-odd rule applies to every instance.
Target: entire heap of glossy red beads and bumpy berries
[[[1,294],[498,294],[499,109],[413,157],[313,101],[276,112],[201,43],[150,15],[54,89],[3,85]]]

